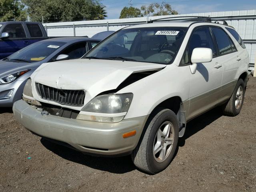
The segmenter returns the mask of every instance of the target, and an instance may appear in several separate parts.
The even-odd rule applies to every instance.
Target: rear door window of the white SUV
[[[212,27],[212,32],[215,36],[220,55],[236,51],[236,47],[224,30],[221,28]]]

